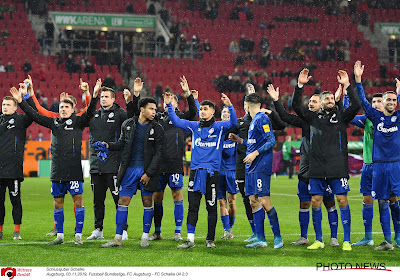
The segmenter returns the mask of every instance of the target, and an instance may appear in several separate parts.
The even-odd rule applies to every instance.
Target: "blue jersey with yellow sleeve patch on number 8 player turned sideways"
[[[267,145],[265,150],[265,145]],[[251,163],[246,164],[246,172],[264,172],[272,174],[272,148],[275,145],[275,136],[272,124],[267,115],[258,112],[250,123],[247,137],[246,155],[258,151],[260,154]]]

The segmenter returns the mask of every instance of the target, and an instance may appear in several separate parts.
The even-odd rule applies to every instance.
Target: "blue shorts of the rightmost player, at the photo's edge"
[[[376,162],[372,172],[372,198],[400,196],[400,162]]]

